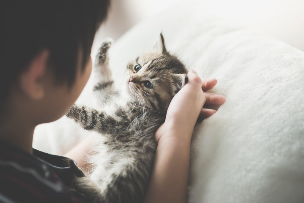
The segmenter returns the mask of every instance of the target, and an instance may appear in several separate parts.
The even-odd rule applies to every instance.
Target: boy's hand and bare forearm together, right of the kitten
[[[195,123],[199,115],[203,119],[216,112],[202,108],[204,103],[225,102],[223,96],[203,93],[216,82],[216,79],[202,80],[191,71],[187,84],[173,97],[164,124],[155,132],[158,144],[145,203],[187,202],[190,143]]]

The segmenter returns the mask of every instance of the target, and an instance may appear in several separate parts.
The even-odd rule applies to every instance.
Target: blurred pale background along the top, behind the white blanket
[[[304,51],[304,0],[196,1],[214,15],[236,20]],[[112,0],[108,19],[97,33],[98,38],[116,40],[139,21],[157,15],[177,2],[180,0]],[[95,44],[93,48],[97,46]]]

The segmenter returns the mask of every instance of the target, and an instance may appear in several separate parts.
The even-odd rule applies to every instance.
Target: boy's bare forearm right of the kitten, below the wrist
[[[176,132],[175,135],[180,133]],[[187,201],[189,137],[164,136],[165,139],[158,142],[145,203]]]

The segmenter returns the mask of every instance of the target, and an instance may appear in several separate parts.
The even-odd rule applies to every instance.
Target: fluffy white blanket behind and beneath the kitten
[[[226,96],[195,129],[189,201],[304,202],[304,53],[184,3],[144,20],[113,44],[117,87],[127,61],[148,50],[161,30],[168,50],[201,77],[217,78],[212,92]],[[88,103],[85,97],[80,100]],[[70,146],[62,140],[58,149],[43,146],[38,132],[53,126],[37,129],[34,147],[62,154],[83,137],[63,136],[59,129],[50,136],[70,140]]]

